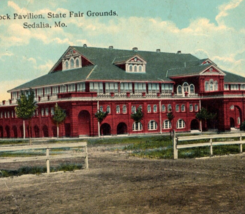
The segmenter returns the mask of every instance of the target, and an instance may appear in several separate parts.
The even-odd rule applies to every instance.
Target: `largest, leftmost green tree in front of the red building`
[[[25,138],[25,120],[29,120],[29,138],[31,135],[31,118],[37,109],[37,102],[34,100],[34,91],[30,88],[25,93],[21,91],[20,98],[17,100],[18,105],[15,107],[15,113],[18,118],[23,119],[23,138]],[[30,140],[31,144],[31,140]]]

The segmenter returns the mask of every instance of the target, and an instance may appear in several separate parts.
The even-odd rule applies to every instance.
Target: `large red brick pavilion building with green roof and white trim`
[[[60,136],[98,136],[199,130],[201,107],[216,113],[205,129],[239,128],[244,121],[245,78],[223,71],[210,59],[191,54],[70,46],[44,76],[9,90],[0,104],[0,137],[23,137],[14,107],[21,91],[32,88],[38,108],[31,119],[32,137],[55,137],[56,103],[66,110]],[[131,114],[141,107],[141,122]],[[95,113],[109,114],[98,124]],[[167,118],[172,111],[174,119]],[[99,128],[100,125],[100,128]]]

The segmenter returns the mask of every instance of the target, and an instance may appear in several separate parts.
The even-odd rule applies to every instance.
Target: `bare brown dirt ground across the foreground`
[[[89,170],[0,178],[0,213],[245,213],[245,154],[149,160],[88,151]]]

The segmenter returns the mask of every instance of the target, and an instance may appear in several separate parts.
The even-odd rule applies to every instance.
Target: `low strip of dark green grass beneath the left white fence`
[[[74,171],[78,169],[82,169],[82,164],[61,164],[57,167],[50,167],[50,172],[57,171]],[[20,176],[26,174],[41,174],[46,173],[46,167],[22,167],[18,170],[0,170],[0,177],[11,177],[11,176]]]

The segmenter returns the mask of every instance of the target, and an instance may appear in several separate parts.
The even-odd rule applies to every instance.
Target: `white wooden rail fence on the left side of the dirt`
[[[68,153],[61,155],[49,155],[50,149],[55,148],[78,148],[83,147],[85,151]],[[46,149],[46,156],[34,156],[34,157],[14,157],[14,158],[0,158],[0,163],[16,163],[26,161],[39,161],[46,160],[47,173],[50,173],[50,160],[64,159],[64,158],[85,158],[85,168],[88,169],[88,150],[87,142],[81,143],[66,143],[66,144],[47,144],[47,145],[29,145],[29,146],[5,146],[0,147],[0,152],[11,152],[20,150],[35,150],[35,149]]]

